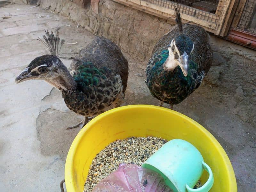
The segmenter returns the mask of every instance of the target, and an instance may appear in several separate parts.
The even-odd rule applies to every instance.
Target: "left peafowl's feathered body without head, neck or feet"
[[[120,106],[127,87],[128,63],[120,49],[105,37],[95,37],[70,65],[76,90],[63,92],[69,109],[96,116]]]

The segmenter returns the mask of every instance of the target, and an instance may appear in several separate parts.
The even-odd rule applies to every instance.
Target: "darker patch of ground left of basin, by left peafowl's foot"
[[[81,118],[73,112],[62,113],[52,109],[41,112],[36,119],[41,153],[44,156],[59,155],[65,161],[70,145],[80,130],[79,127],[72,130],[66,128],[79,121]]]

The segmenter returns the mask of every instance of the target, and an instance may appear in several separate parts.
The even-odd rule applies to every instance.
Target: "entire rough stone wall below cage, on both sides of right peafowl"
[[[95,14],[85,1],[41,0],[42,7],[64,14],[95,35],[103,35],[118,44],[123,52],[146,65],[156,41],[172,25],[144,12],[101,0]],[[256,53],[243,46],[211,36],[214,62],[205,83],[211,92],[200,92],[216,100],[227,111],[256,126]]]

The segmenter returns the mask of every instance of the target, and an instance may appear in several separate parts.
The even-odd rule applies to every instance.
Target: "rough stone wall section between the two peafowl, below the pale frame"
[[[82,8],[69,0],[42,0],[43,8],[67,15],[95,35],[103,35],[118,44],[132,58],[145,61],[153,46],[172,27],[157,17],[130,7],[102,0],[98,15],[90,7]]]

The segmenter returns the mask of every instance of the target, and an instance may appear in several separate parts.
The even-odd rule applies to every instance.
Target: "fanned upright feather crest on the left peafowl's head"
[[[59,53],[60,53],[60,49],[62,47],[62,45],[65,43],[64,39],[60,40],[59,37],[59,31],[57,31],[56,36],[54,36],[53,32],[49,33],[49,31],[44,30],[45,31],[45,35],[43,35],[44,40],[40,39],[38,37],[38,40],[41,41],[46,47],[47,49],[50,51],[50,53],[53,56],[58,57]]]

